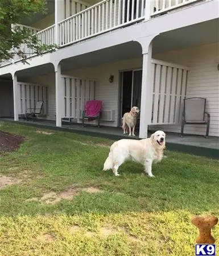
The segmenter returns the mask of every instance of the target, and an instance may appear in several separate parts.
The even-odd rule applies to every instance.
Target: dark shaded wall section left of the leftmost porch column
[[[14,117],[12,81],[0,80],[0,117]]]

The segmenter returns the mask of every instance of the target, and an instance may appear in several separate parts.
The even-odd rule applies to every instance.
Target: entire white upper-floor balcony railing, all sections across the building
[[[103,0],[41,31],[38,28],[18,24],[16,26],[29,28],[42,44],[56,43],[63,47],[199,1],[208,0]],[[34,56],[26,44],[20,49],[27,57]],[[14,60],[5,61],[0,65],[8,65],[19,60],[20,57],[15,55]]]

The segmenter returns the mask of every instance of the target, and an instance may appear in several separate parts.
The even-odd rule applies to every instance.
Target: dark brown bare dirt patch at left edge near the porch
[[[19,135],[0,131],[0,152],[12,152],[23,142],[24,138]]]

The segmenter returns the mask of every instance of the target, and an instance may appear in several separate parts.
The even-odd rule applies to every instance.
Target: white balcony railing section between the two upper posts
[[[144,19],[147,0],[104,0],[59,22],[59,44],[65,46]]]

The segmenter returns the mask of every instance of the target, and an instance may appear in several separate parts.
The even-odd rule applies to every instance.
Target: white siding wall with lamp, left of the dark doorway
[[[102,121],[101,125],[118,126],[118,115],[120,109],[119,94],[120,81],[119,71],[126,69],[137,69],[142,67],[142,59],[131,59],[119,61],[98,67],[86,69],[77,69],[74,71],[64,72],[64,75],[75,76],[80,78],[89,78],[96,80],[95,98],[103,101],[103,110],[115,110],[115,121]],[[110,84],[109,77],[114,75],[114,82]]]

